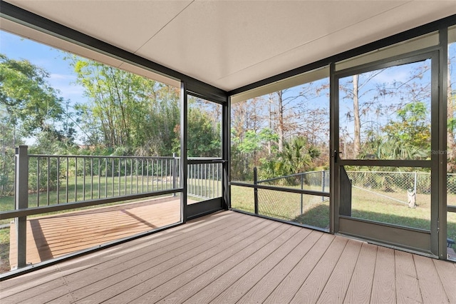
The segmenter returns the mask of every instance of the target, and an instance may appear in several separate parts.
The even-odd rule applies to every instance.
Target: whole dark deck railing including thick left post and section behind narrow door
[[[0,221],[16,218],[18,268],[26,266],[28,216],[182,192],[176,156],[36,155],[19,146],[15,162],[15,206]],[[221,196],[222,163],[199,160],[187,172],[188,196]]]

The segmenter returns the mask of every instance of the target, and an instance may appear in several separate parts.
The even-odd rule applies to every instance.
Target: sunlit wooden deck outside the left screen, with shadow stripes
[[[193,202],[193,201],[191,201]],[[39,263],[180,221],[180,199],[155,198],[27,221],[26,263]],[[16,228],[10,229],[9,263],[17,265]]]

